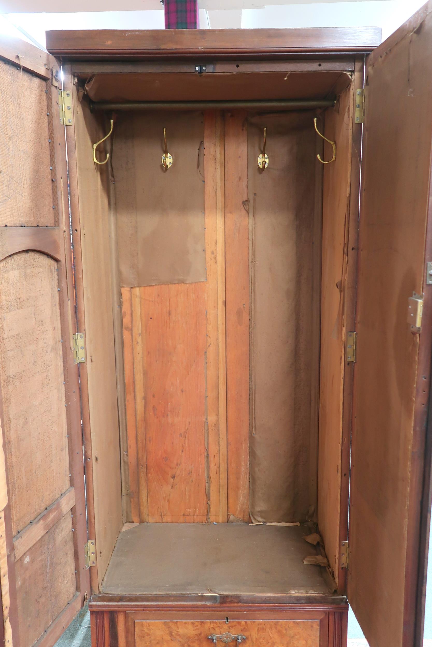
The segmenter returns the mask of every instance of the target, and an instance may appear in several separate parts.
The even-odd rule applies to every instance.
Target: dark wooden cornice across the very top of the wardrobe
[[[47,50],[66,60],[298,58],[367,53],[380,43],[378,27],[47,32]]]

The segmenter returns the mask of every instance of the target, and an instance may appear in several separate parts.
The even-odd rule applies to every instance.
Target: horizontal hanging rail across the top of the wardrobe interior
[[[313,110],[333,107],[335,99],[256,99],[234,101],[126,101],[90,102],[91,112],[95,110],[229,110],[233,108],[271,110]]]

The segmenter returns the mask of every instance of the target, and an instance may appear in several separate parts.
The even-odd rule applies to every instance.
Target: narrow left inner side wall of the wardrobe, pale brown
[[[92,586],[97,590],[123,523],[109,175],[107,167],[96,168],[91,157],[93,143],[105,134],[105,124],[90,114],[87,104],[78,101],[75,87],[73,109],[75,137],[74,149],[69,148],[69,164],[76,181],[71,204],[77,310],[87,356],[87,362],[80,365],[80,384],[85,462],[89,469],[89,525],[97,542],[97,582],[93,579]]]

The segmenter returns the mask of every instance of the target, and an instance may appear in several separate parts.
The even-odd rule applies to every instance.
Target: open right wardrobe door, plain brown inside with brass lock
[[[432,3],[370,54],[365,98],[347,591],[370,647],[413,647],[427,545]]]

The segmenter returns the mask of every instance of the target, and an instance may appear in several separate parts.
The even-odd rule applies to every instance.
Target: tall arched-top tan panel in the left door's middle
[[[69,488],[56,261],[0,263],[0,382],[14,535]]]

